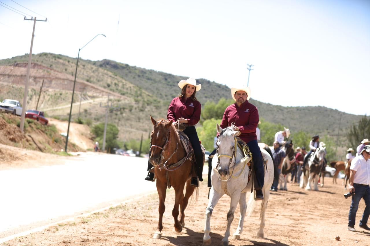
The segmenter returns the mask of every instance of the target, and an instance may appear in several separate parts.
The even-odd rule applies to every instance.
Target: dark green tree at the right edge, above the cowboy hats
[[[370,117],[363,116],[357,125],[354,123],[347,132],[347,139],[350,146],[356,150],[356,147],[363,139],[370,136]]]

